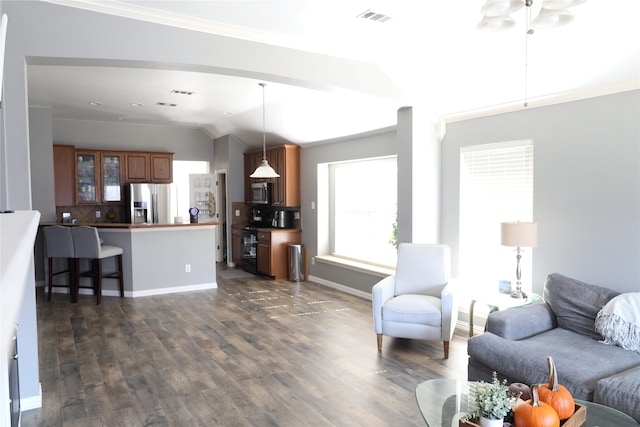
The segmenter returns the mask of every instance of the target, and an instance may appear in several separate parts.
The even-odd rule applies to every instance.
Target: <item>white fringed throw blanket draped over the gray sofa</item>
[[[607,344],[640,353],[640,292],[620,294],[596,316],[596,331]]]

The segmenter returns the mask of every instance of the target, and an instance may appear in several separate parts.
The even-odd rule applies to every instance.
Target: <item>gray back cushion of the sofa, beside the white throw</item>
[[[547,276],[544,299],[556,315],[558,327],[586,335],[595,340],[602,336],[595,330],[598,312],[613,297],[611,289],[590,285],[558,273]]]

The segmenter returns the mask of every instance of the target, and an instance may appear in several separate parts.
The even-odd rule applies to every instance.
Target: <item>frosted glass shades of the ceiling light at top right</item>
[[[567,10],[569,7],[577,6],[587,0],[542,0],[542,8],[540,13],[533,20],[535,28],[554,28],[566,25],[573,21],[573,14]],[[477,25],[480,31],[502,31],[507,30],[514,25],[516,21],[509,14],[527,6],[527,13],[533,0],[487,0],[482,6],[482,21]],[[532,34],[531,20],[527,20],[527,31]]]

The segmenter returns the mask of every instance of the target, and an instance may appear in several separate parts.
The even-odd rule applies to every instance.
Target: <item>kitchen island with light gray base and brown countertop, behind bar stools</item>
[[[98,234],[104,244],[121,247],[123,250],[122,268],[125,297],[142,297],[217,287],[216,232],[219,225],[217,222],[196,224],[40,224],[41,227],[48,225],[93,226],[98,228]],[[88,263],[88,260],[82,261]],[[84,267],[86,266],[83,265],[82,268]],[[115,269],[115,259],[104,260],[104,271],[115,271]],[[80,291],[91,292],[91,290],[84,289]],[[117,281],[103,280],[102,294],[104,296],[119,296]]]

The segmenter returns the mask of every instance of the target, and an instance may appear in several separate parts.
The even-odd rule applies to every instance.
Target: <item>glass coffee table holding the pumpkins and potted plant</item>
[[[438,379],[418,384],[416,400],[427,426],[458,427],[458,421],[473,410],[469,402],[468,381]],[[577,400],[587,407],[587,421],[582,427],[638,427],[630,416],[613,408]],[[517,427],[517,426],[516,426]]]

